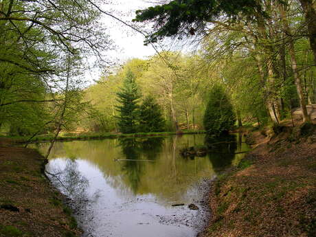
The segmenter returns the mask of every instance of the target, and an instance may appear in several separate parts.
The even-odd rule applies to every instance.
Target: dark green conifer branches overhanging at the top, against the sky
[[[150,43],[165,36],[195,34],[196,31],[204,30],[205,24],[220,14],[235,17],[240,12],[251,15],[256,10],[261,11],[260,5],[249,0],[176,0],[137,10],[133,21],[155,22],[155,32],[146,41]]]

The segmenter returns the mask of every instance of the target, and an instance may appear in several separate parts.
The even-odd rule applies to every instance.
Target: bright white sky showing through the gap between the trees
[[[153,5],[153,2],[150,3],[146,0],[109,0],[109,3],[104,3],[101,8],[106,12],[111,12],[113,16],[122,21],[131,23],[131,20],[135,18],[136,10],[145,9],[151,5]],[[144,45],[144,36],[139,32],[135,32],[131,27],[106,15],[102,16],[101,22],[107,29],[106,34],[115,43],[115,50],[106,52],[106,60],[111,60],[113,63],[120,65],[128,59],[146,59],[156,53],[152,46]],[[86,72],[84,78],[87,80],[87,84],[91,84],[97,81],[101,75],[102,69],[91,68]]]

